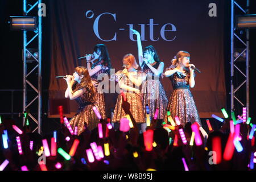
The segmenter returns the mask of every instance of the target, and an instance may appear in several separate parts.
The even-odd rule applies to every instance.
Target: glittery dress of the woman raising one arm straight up
[[[156,62],[152,65],[155,69],[158,69],[160,62]],[[150,117],[154,117],[156,108],[159,109],[158,118],[163,119],[166,113],[166,107],[168,104],[168,99],[166,92],[164,91],[163,85],[160,82],[160,78],[154,75],[154,72],[144,65],[142,71],[147,74],[147,80],[143,82],[141,89],[141,97],[143,104],[143,111],[146,115],[146,104],[150,110]]]

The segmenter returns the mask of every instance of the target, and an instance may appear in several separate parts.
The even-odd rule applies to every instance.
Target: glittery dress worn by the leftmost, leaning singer
[[[69,120],[73,131],[75,131],[75,126],[77,126],[77,135],[80,135],[84,131],[84,126],[88,127],[89,130],[98,127],[98,118],[93,111],[93,106],[96,106],[97,109],[98,106],[88,101],[87,94],[77,97],[76,102],[79,104],[79,109],[74,117]]]

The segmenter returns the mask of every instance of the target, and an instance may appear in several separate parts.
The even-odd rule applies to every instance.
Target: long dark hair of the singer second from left
[[[96,63],[94,63],[92,65],[92,69],[99,63],[102,61],[102,65],[104,65],[105,67],[108,67],[109,69],[107,70],[108,73],[110,73],[110,69],[112,68],[112,64],[110,62],[110,58],[109,58],[109,52],[108,49],[106,48],[105,44],[97,44],[94,48],[93,51],[98,52],[101,51],[101,55],[98,58],[98,61],[96,61]]]

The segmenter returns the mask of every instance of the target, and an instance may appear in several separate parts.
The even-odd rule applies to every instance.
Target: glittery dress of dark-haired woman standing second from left
[[[104,75],[108,74],[108,68],[103,68],[101,62],[96,64],[101,66],[101,70],[95,73],[93,76],[90,78],[94,82],[94,87],[96,88],[96,104],[99,107],[99,112],[101,114],[101,117],[103,119],[106,118],[106,110],[105,110],[105,99],[104,99],[104,92],[102,90],[102,87],[99,86],[101,84],[101,81],[104,79]],[[98,80],[99,78],[99,80]]]

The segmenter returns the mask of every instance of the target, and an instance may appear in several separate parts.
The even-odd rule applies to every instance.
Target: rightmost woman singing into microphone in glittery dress
[[[164,76],[170,78],[174,89],[166,111],[170,111],[173,119],[177,115],[183,127],[187,122],[197,122],[201,126],[196,104],[189,90],[195,86],[195,65],[189,63],[190,54],[179,51],[172,59],[172,65],[164,72]],[[168,122],[167,113],[164,115],[164,122]]]

